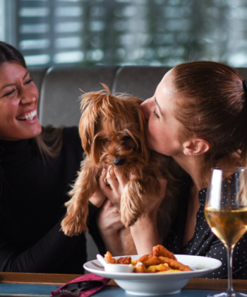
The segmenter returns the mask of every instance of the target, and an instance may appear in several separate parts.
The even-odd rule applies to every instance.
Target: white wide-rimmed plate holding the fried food
[[[126,256],[122,256],[126,257]],[[140,255],[131,255],[132,260],[139,259]],[[114,257],[117,259],[118,257]],[[222,262],[210,258],[191,255],[176,255],[179,262],[191,267],[191,272],[174,273],[126,273],[105,272],[98,260],[87,262],[83,267],[94,274],[114,279],[123,290],[133,295],[159,296],[179,293],[193,277],[202,276],[217,269]]]

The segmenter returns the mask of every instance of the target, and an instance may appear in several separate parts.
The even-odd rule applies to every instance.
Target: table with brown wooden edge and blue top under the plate
[[[68,283],[72,279],[76,279],[81,276],[80,274],[32,274],[32,273],[12,273],[12,272],[0,272],[0,296],[49,296],[49,293],[42,294],[43,288],[46,287],[46,291],[54,291],[55,289],[59,289],[59,286],[62,284]],[[234,279],[234,290],[236,291],[247,291],[247,280]],[[13,286],[15,285],[15,286]],[[36,285],[36,288],[39,288],[40,293],[25,293],[21,294],[20,289],[25,287],[28,288],[28,285]],[[39,285],[47,285],[47,286],[39,286]],[[1,288],[3,292],[10,293],[1,293]],[[9,288],[9,289],[8,289]],[[12,291],[11,291],[11,288]],[[183,288],[186,290],[182,290],[181,293],[176,294],[176,296],[207,296],[209,293],[208,290],[222,290],[225,291],[227,289],[227,279],[191,279],[188,284]],[[16,291],[15,291],[16,290]],[[19,291],[18,291],[19,290]],[[198,291],[199,290],[199,291]],[[202,291],[204,290],[204,291]],[[28,292],[28,291],[26,291]],[[200,293],[201,292],[201,293]],[[200,294],[199,294],[200,293]],[[212,291],[211,291],[212,293]],[[103,296],[126,296],[124,291],[120,289],[116,283],[111,280],[107,287],[105,287],[104,291],[101,293],[97,293],[95,297],[103,297]],[[128,295],[129,296],[129,295]]]

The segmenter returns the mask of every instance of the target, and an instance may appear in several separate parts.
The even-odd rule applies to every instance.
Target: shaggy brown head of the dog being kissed
[[[126,94],[111,95],[109,88],[81,96],[79,132],[85,153],[95,164],[121,168],[147,163],[143,101]]]

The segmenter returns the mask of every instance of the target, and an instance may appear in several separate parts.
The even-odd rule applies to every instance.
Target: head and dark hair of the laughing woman
[[[0,42],[0,140],[34,137],[43,157],[55,157],[61,149],[63,128],[41,127],[37,118],[38,98],[23,55]]]

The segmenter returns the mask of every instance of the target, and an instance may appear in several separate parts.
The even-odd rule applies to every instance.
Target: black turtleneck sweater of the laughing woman
[[[35,141],[0,141],[0,271],[83,274],[85,235],[61,228],[64,202],[83,158],[78,128],[65,128],[61,153],[42,160]],[[97,208],[88,227],[99,238]],[[104,252],[101,238],[98,248]]]

